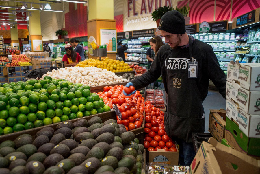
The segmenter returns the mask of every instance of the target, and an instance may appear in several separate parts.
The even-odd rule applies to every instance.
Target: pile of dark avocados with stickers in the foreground
[[[1,174],[140,174],[144,146],[133,132],[94,116],[0,144]]]

